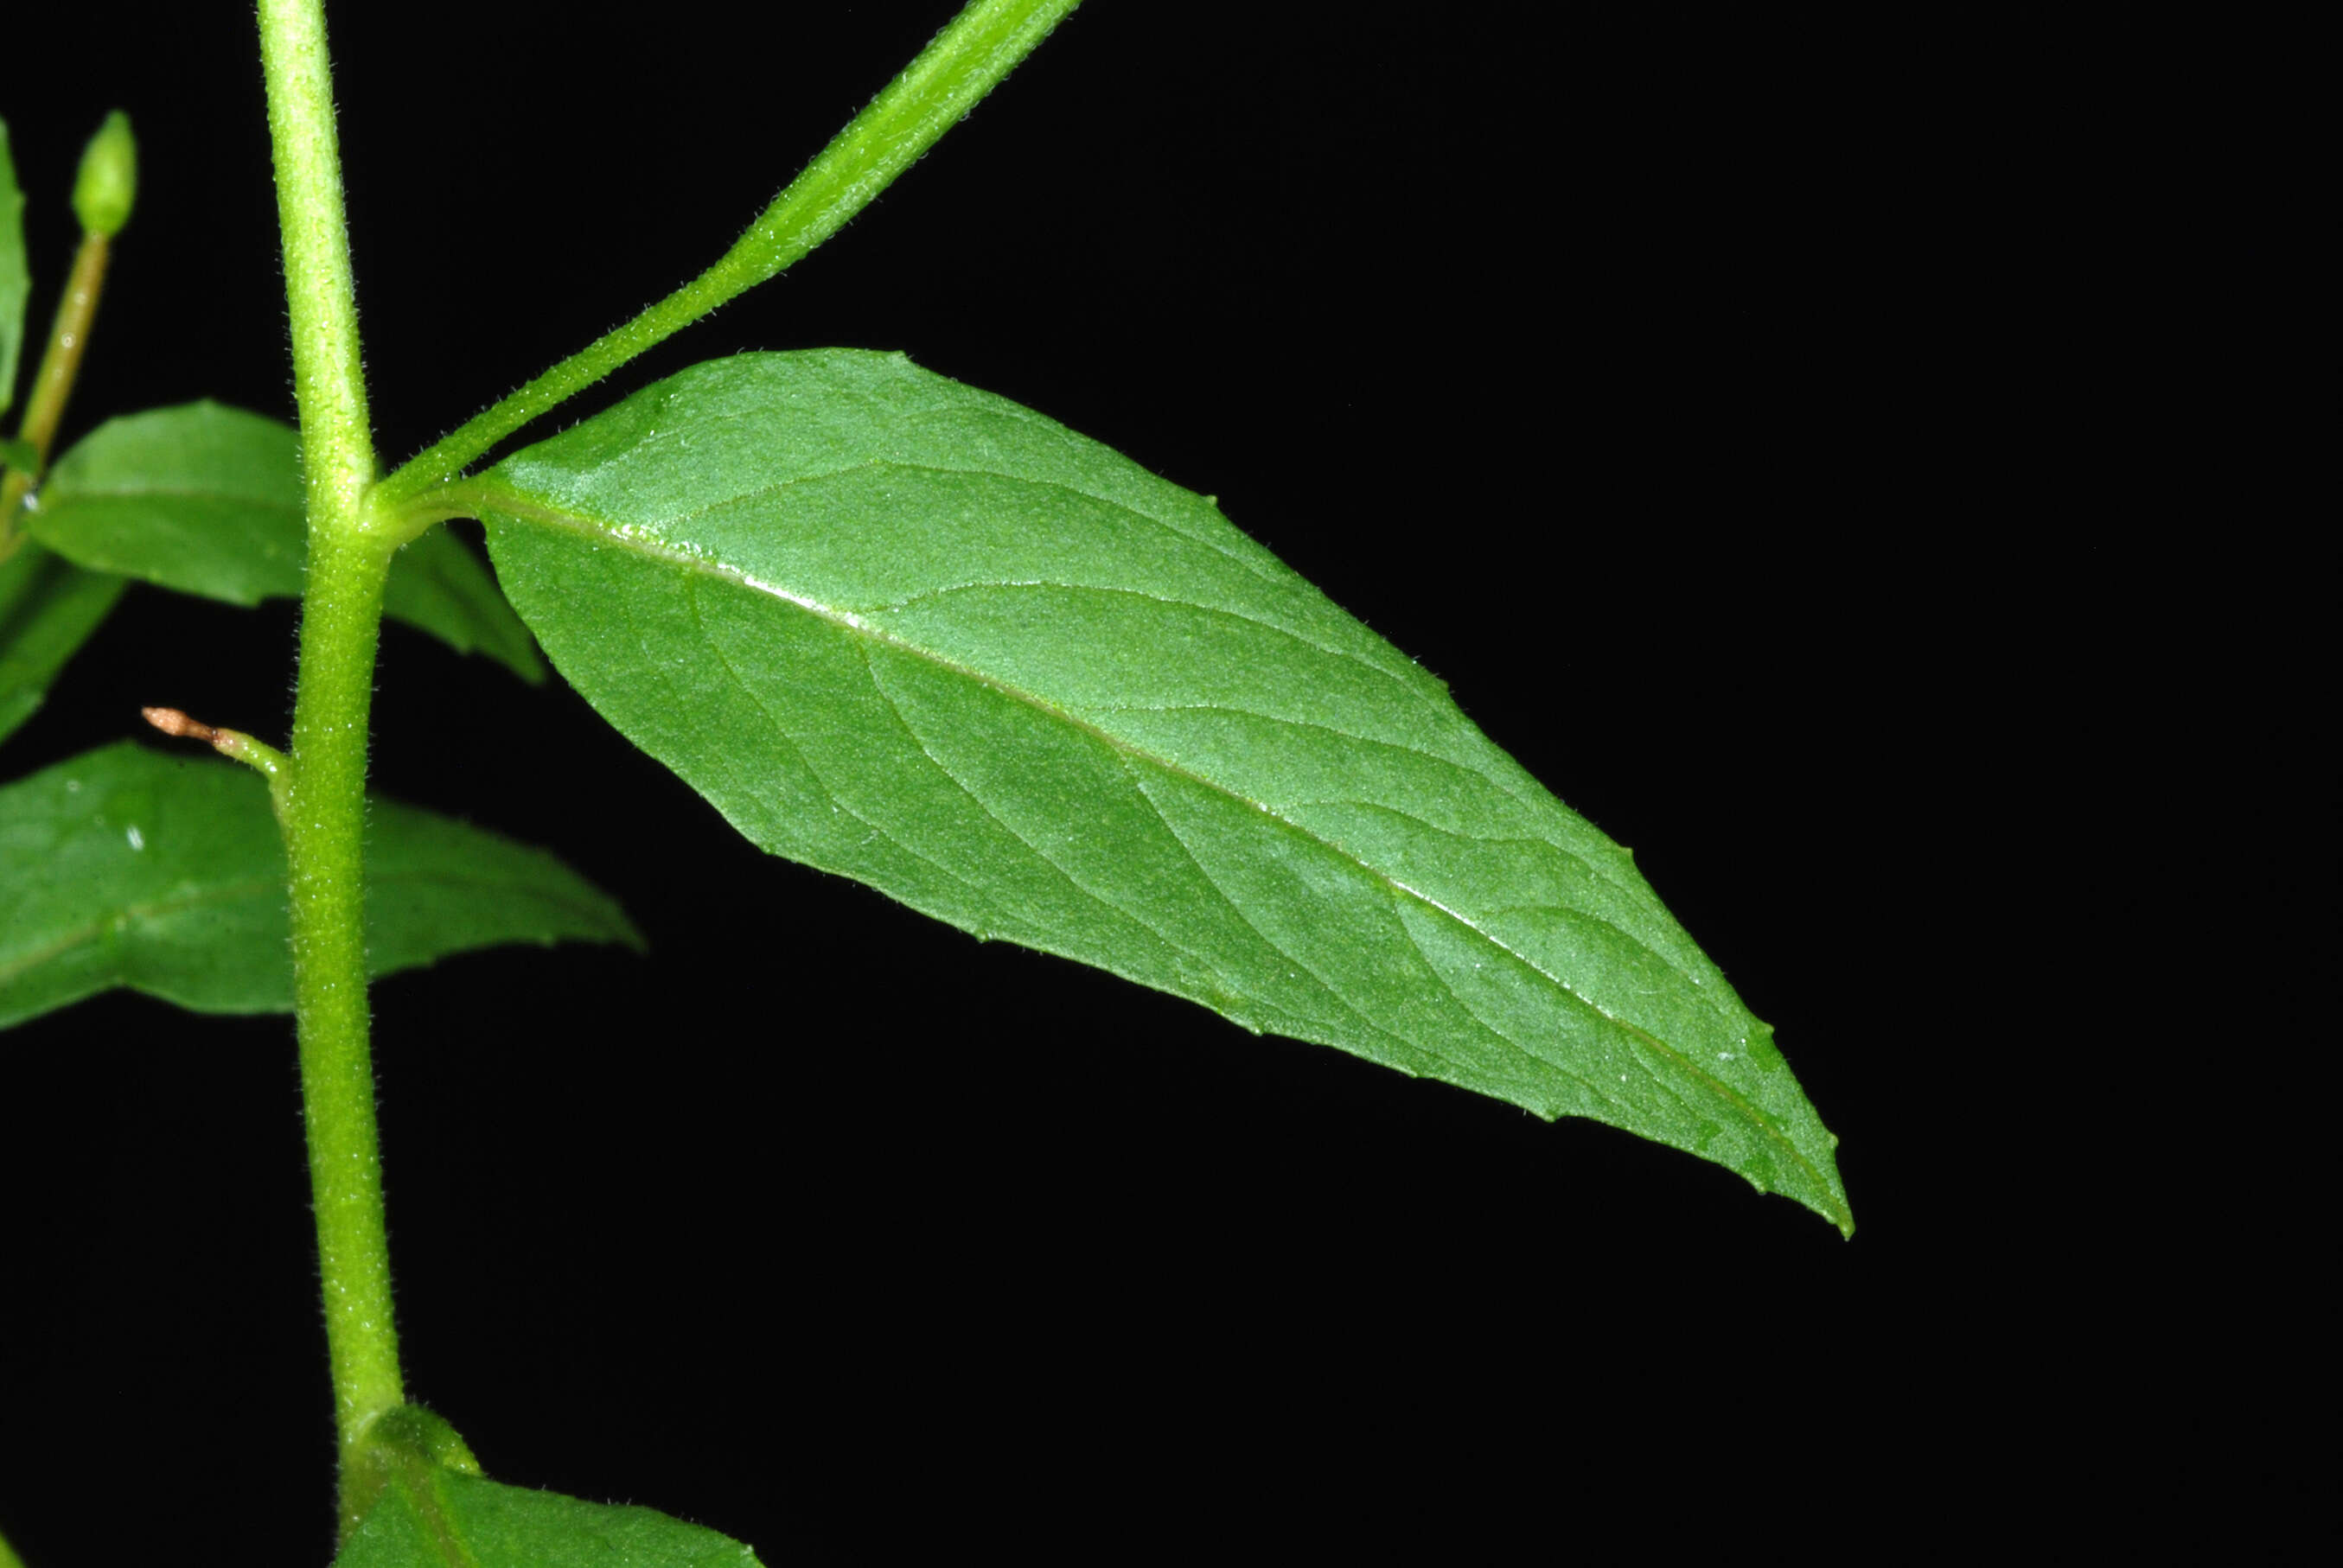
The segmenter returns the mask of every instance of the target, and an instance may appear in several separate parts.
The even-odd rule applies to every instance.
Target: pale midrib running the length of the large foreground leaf
[[[586,537],[593,537],[593,539],[597,539],[602,544],[609,544],[614,548],[621,548],[621,551],[628,551],[628,553],[635,553],[635,555],[642,555],[642,558],[649,558],[649,560],[663,560],[668,565],[684,567],[686,572],[696,572],[696,574],[703,574],[703,577],[717,577],[722,581],[736,584],[736,586],[747,588],[752,593],[764,593],[766,598],[783,600],[785,605],[794,605],[797,609],[804,609],[806,614],[811,614],[815,619],[829,621],[832,626],[841,626],[846,630],[853,630],[855,635],[869,638],[874,642],[883,642],[883,645],[888,645],[893,649],[900,649],[902,654],[909,654],[914,659],[923,659],[928,663],[935,663],[942,670],[949,670],[949,673],[961,675],[965,680],[972,680],[977,684],[991,687],[993,691],[1000,691],[1003,696],[1010,696],[1010,698],[1022,701],[1022,703],[1026,703],[1031,708],[1038,708],[1040,713],[1047,713],[1052,720],[1057,720],[1061,724],[1068,724],[1073,729],[1080,729],[1082,734],[1094,736],[1099,743],[1108,745],[1115,755],[1139,757],[1141,762],[1146,762],[1150,766],[1157,766],[1164,773],[1174,773],[1179,778],[1188,778],[1188,780],[1197,783],[1200,788],[1204,788],[1204,790],[1211,790],[1211,792],[1216,792],[1216,795],[1221,795],[1225,799],[1232,799],[1232,802],[1239,802],[1244,806],[1251,806],[1251,809],[1261,811],[1261,816],[1265,816],[1268,820],[1277,823],[1286,832],[1293,832],[1300,839],[1319,844],[1328,853],[1340,855],[1345,863],[1359,867],[1361,872],[1366,872],[1375,881],[1385,884],[1387,888],[1392,888],[1396,893],[1403,893],[1406,898],[1415,900],[1425,909],[1432,909],[1434,914],[1441,914],[1441,916],[1455,921],[1464,930],[1474,933],[1481,942],[1485,942],[1495,952],[1504,954],[1509,961],[1523,966],[1525,970],[1530,970],[1532,975],[1537,975],[1539,980],[1544,980],[1546,984],[1551,984],[1556,991],[1560,991],[1563,996],[1567,996],[1577,1005],[1582,1005],[1589,1013],[1593,1013],[1596,1017],[1600,1017],[1605,1024],[1612,1024],[1614,1029],[1619,1029],[1621,1034],[1626,1034],[1631,1041],[1645,1045],[1652,1055],[1657,1055],[1657,1057],[1661,1057],[1666,1062],[1673,1062],[1678,1066],[1678,1071],[1682,1071],[1687,1078],[1692,1078],[1694,1083],[1703,1085],[1710,1095],[1715,1095],[1720,1102],[1724,1102],[1727,1106],[1731,1106],[1739,1113],[1741,1120],[1746,1120],[1762,1137],[1767,1137],[1769,1141],[1774,1141],[1790,1160],[1797,1163],[1797,1167],[1806,1170],[1809,1177],[1813,1179],[1818,1193],[1823,1195],[1823,1200],[1832,1202],[1830,1181],[1813,1165],[1813,1160],[1809,1160],[1806,1153],[1795,1141],[1790,1141],[1790,1137],[1785,1132],[1781,1132],[1778,1127],[1774,1127],[1771,1118],[1767,1118],[1762,1111],[1757,1111],[1757,1106],[1753,1106],[1729,1083],[1724,1083],[1724,1080],[1715,1078],[1713,1073],[1703,1071],[1699,1064],[1692,1062],[1692,1057],[1687,1057],[1685,1052],[1675,1050],[1673,1045],[1668,1045],[1659,1036],[1649,1034],[1647,1029],[1642,1029],[1642,1027],[1638,1027],[1638,1024],[1633,1024],[1633,1022],[1628,1022],[1624,1017],[1612,1015],[1610,1010],[1605,1010],[1593,998],[1589,998],[1589,996],[1579,994],[1577,989],[1572,989],[1560,975],[1553,975],[1551,970],[1546,970],[1544,966],[1539,966],[1528,954],[1514,949],[1504,940],[1500,940],[1500,938],[1490,935],[1488,930],[1483,930],[1469,916],[1460,914],[1457,909],[1450,909],[1448,905],[1443,905],[1441,900],[1436,900],[1436,898],[1432,898],[1427,893],[1420,893],[1418,888],[1410,888],[1408,884],[1399,881],[1389,872],[1359,860],[1347,848],[1343,848],[1338,844],[1331,844],[1328,839],[1319,837],[1310,827],[1305,827],[1300,823],[1293,823],[1291,818],[1286,818],[1286,816],[1268,809],[1263,802],[1246,799],[1246,797],[1237,795],[1235,790],[1230,790],[1228,785],[1223,785],[1223,783],[1218,783],[1214,778],[1195,773],[1193,769],[1186,769],[1179,762],[1172,762],[1167,757],[1157,757],[1155,752],[1150,752],[1150,750],[1146,750],[1141,745],[1134,745],[1132,741],[1125,741],[1122,736],[1108,734],[1108,731],[1099,729],[1097,724],[1092,724],[1092,722],[1087,722],[1087,720],[1082,720],[1078,715],[1066,713],[1064,708],[1059,708],[1057,703],[1043,698],[1040,694],[1033,694],[1033,691],[1026,691],[1022,687],[1007,684],[1007,682],[1003,682],[1003,680],[998,680],[993,675],[986,675],[984,670],[975,670],[975,668],[968,668],[968,666],[963,666],[963,663],[958,663],[954,659],[947,659],[937,649],[921,647],[921,645],[916,645],[916,642],[911,642],[911,640],[907,640],[907,638],[902,638],[897,633],[890,633],[890,630],[886,630],[881,626],[872,626],[869,621],[865,621],[860,614],[855,614],[851,609],[839,609],[836,605],[825,605],[825,602],[806,598],[801,593],[792,593],[792,591],[787,591],[787,588],[783,588],[778,584],[761,581],[761,579],[752,577],[750,572],[743,572],[740,567],[736,567],[731,563],[724,563],[724,560],[717,560],[712,555],[696,555],[696,553],[691,553],[686,548],[670,546],[665,541],[644,539],[637,532],[630,532],[628,527],[623,527],[619,523],[612,523],[612,520],[604,520],[604,518],[590,518],[590,516],[574,513],[574,511],[562,511],[558,506],[546,506],[546,504],[541,504],[541,502],[537,502],[532,497],[525,497],[518,490],[513,490],[511,483],[504,480],[501,476],[483,476],[478,483],[480,483],[478,502],[487,511],[504,511],[504,513],[508,513],[508,516],[513,516],[518,520],[544,523],[548,527],[560,527],[565,532],[586,534]],[[1654,954],[1654,959],[1659,959],[1661,963],[1666,963],[1666,956],[1661,956],[1661,954]],[[1471,1013],[1471,1008],[1467,1008],[1467,1013]],[[1492,1034],[1497,1034],[1497,1031],[1492,1029]],[[1539,1062],[1539,1066],[1549,1066],[1549,1069],[1553,1066],[1544,1057],[1535,1057],[1535,1052],[1528,1052],[1528,1048],[1523,1048],[1521,1043],[1511,1041],[1509,1036],[1497,1034],[1497,1038],[1502,1038],[1509,1045],[1514,1045],[1514,1050],[1518,1050],[1523,1055],[1530,1055],[1535,1062]],[[1572,1073],[1572,1076],[1577,1076],[1577,1073]],[[1582,1083],[1584,1083],[1584,1078],[1582,1078]],[[1593,1085],[1589,1085],[1589,1088],[1593,1088]],[[1837,1207],[1837,1205],[1832,1205],[1832,1207]]]

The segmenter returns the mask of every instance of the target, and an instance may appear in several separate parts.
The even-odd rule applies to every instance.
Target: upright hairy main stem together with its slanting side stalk
[[[497,441],[843,227],[1075,5],[1078,0],[975,0],[701,279],[546,370],[377,485],[342,216],[326,16],[321,0],[258,0],[286,305],[293,319],[309,567],[302,586],[293,748],[284,759],[255,752],[255,766],[267,762],[274,769],[262,771],[272,771],[291,863],[293,1008],[342,1444],[344,1538],[377,1491],[368,1484],[368,1432],[405,1402],[375,1139],[361,853],[366,727],[391,553],[433,520],[469,509],[471,495],[450,480]],[[162,722],[169,727],[180,720],[173,713]]]

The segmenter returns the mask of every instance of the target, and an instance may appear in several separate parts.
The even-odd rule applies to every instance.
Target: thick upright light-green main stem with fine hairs
[[[326,1345],[342,1453],[342,1533],[356,1521],[366,1430],[403,1399],[375,1141],[366,1015],[366,724],[391,546],[368,530],[375,476],[342,157],[319,0],[260,0],[293,394],[309,502],[300,680],[284,837],[293,900],[293,1013],[316,1205]]]

